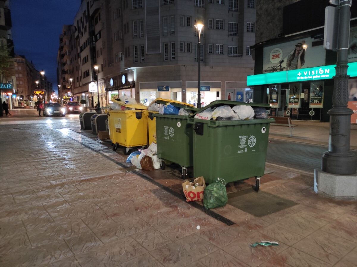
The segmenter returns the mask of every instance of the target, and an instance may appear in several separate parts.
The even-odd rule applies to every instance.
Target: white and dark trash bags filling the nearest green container
[[[213,109],[209,107],[196,114],[195,118],[215,121],[268,119],[268,113],[263,107],[252,108],[248,105],[230,107],[229,105],[223,105]]]

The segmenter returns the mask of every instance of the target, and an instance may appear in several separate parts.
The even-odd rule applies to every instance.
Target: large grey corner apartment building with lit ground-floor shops
[[[122,95],[147,105],[157,97],[196,104],[194,25],[202,21],[203,105],[247,100],[255,16],[255,0],[83,0],[74,20],[80,69],[74,96],[96,102],[89,84],[98,79],[101,106]]]

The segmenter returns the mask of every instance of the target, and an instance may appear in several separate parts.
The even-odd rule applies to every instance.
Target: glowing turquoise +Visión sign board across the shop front
[[[247,85],[283,84],[300,81],[332,79],[336,75],[336,65],[288,70],[247,76]],[[348,63],[347,74],[357,77],[357,62]]]

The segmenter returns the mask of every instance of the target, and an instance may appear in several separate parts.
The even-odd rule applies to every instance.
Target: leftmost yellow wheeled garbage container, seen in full
[[[147,107],[115,100],[113,102],[120,105],[120,110],[107,111],[113,150],[116,151],[120,145],[124,147],[124,153],[129,155],[130,148],[147,145]]]

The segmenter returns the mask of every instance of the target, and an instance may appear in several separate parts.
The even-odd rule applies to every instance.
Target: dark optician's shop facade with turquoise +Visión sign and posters
[[[269,103],[274,116],[297,120],[330,120],[337,52],[325,50],[325,7],[329,1],[301,0],[283,7],[279,36],[252,47],[255,75],[247,77],[256,102]],[[314,20],[299,20],[314,17]],[[351,7],[348,107],[357,123],[357,7]],[[268,26],[267,26],[268,27]],[[259,34],[258,34],[259,35]]]

